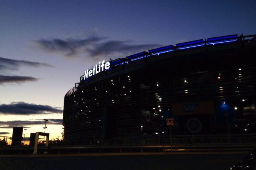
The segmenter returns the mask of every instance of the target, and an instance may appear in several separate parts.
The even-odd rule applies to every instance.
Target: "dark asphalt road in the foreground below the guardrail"
[[[0,170],[226,170],[243,154],[0,157]]]

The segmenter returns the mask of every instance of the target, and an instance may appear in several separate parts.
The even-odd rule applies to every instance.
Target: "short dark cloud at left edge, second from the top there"
[[[0,85],[8,84],[8,83],[24,83],[24,82],[33,82],[39,80],[38,78],[30,77],[30,76],[4,76],[0,75]]]

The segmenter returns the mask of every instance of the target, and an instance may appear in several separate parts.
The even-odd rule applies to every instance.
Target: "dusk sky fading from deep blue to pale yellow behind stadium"
[[[64,96],[98,61],[256,34],[255,7],[255,0],[2,0],[0,139],[13,126],[24,126],[26,137],[43,132],[43,119],[50,139],[61,136]]]

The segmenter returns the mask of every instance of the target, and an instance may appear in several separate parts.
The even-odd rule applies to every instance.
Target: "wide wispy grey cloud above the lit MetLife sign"
[[[118,53],[128,55],[152,48],[161,44],[135,44],[134,41],[107,40],[106,37],[88,37],[85,39],[40,39],[36,43],[42,49],[64,54],[64,57],[74,57],[79,53],[87,57],[106,57]]]

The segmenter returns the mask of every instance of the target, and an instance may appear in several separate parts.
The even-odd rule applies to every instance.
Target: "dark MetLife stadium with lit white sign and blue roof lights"
[[[64,140],[256,132],[256,35],[96,63],[64,98]]]

